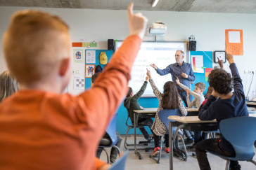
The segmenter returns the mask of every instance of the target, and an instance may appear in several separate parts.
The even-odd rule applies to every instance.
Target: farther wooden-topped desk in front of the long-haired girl
[[[158,111],[158,108],[143,108],[142,110],[134,110],[134,153],[138,155],[139,160],[142,160],[143,157],[137,150],[136,146],[136,126],[138,125],[138,118],[155,118],[155,114]],[[198,115],[198,108],[186,108],[188,111],[188,116]]]

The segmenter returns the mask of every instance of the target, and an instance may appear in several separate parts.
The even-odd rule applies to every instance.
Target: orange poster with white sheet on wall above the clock
[[[226,29],[226,52],[233,55],[243,55],[243,30]]]

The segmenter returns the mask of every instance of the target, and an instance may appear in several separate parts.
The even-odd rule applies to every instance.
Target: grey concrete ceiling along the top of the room
[[[256,0],[133,0],[134,10],[256,13]],[[124,10],[132,0],[0,0],[0,6]]]

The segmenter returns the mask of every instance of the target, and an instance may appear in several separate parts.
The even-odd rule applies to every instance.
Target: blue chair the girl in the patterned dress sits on
[[[169,117],[169,115],[178,115],[178,116],[182,116],[181,115],[181,111],[179,111],[179,109],[174,109],[174,110],[172,110],[172,109],[164,109],[164,110],[162,110],[162,111],[159,111],[159,113],[158,113],[158,118],[161,120],[161,122],[163,123],[163,124],[165,124],[165,126],[167,127],[167,133],[166,134],[169,134],[169,121],[172,121],[172,120],[168,120],[168,117]],[[172,122],[174,122],[174,121],[172,121]],[[173,131],[173,133],[172,134],[174,134],[174,132],[175,132],[175,130],[176,130],[176,128],[172,128],[172,131]],[[174,134],[174,146],[176,146],[176,147],[178,147],[178,138],[177,138],[177,135],[178,136],[180,136],[180,138],[181,138],[181,141],[182,141],[182,143],[183,143],[183,147],[184,147],[184,149],[185,149],[185,151],[186,151],[186,147],[185,147],[185,144],[184,144],[184,140],[183,140],[183,138],[182,138],[182,136],[181,135],[179,135],[179,134]],[[164,136],[164,135],[163,135]],[[161,140],[160,140],[160,154],[158,155],[158,160],[156,160],[155,159],[155,157],[153,157],[152,155],[149,155],[149,157],[151,157],[153,160],[155,160],[155,162],[157,162],[158,164],[160,163],[160,157],[161,157],[161,153],[162,153],[162,139],[163,139],[163,136],[161,137]],[[169,143],[169,144],[171,144],[171,143]],[[178,152],[181,152],[181,150],[177,150]],[[183,152],[181,152],[181,154],[182,154]]]

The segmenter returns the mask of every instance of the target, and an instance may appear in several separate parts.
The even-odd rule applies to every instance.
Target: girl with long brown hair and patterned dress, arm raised
[[[182,115],[186,115],[187,111],[184,108],[183,101],[181,97],[179,97],[179,93],[175,83],[172,81],[167,81],[164,85],[163,94],[158,90],[158,87],[155,86],[155,83],[151,77],[151,72],[147,71],[147,76],[149,77],[149,83],[151,83],[151,87],[155,94],[155,97],[158,98],[158,111],[155,115],[155,120],[153,122],[153,126],[151,129],[153,130],[154,141],[155,141],[155,149],[152,156],[158,155],[160,152],[160,144],[159,139],[160,136],[165,135],[165,153],[169,153],[169,134],[166,134],[167,127],[161,122],[158,118],[159,111],[163,109],[176,109],[179,108]]]

